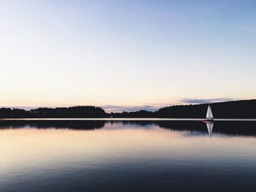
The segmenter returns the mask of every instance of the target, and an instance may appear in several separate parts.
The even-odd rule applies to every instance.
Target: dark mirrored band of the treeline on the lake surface
[[[0,128],[23,128],[29,126],[33,128],[69,128],[76,130],[94,130],[104,128],[106,123],[122,126],[141,126],[143,128],[159,126],[175,131],[207,132],[206,123],[201,121],[175,121],[175,120],[4,120],[0,121]],[[238,135],[238,136],[256,136],[255,121],[214,121],[214,133]]]

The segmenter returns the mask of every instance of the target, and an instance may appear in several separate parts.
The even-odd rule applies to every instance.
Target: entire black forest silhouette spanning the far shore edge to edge
[[[205,118],[208,104],[174,105],[156,112],[107,113],[101,107],[78,106],[21,110],[1,108],[0,118]],[[214,118],[256,118],[256,99],[211,104]]]

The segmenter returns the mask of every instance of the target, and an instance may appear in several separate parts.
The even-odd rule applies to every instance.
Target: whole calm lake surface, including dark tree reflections
[[[256,123],[0,122],[0,191],[255,191]]]

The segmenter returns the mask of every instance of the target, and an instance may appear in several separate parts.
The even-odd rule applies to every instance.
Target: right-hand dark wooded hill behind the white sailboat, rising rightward
[[[256,118],[256,99],[212,103],[214,118]],[[156,112],[113,113],[113,118],[205,118],[208,104],[174,105]]]

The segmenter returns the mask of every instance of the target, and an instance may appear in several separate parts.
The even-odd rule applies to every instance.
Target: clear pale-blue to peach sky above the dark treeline
[[[256,98],[256,1],[0,0],[0,107]]]

